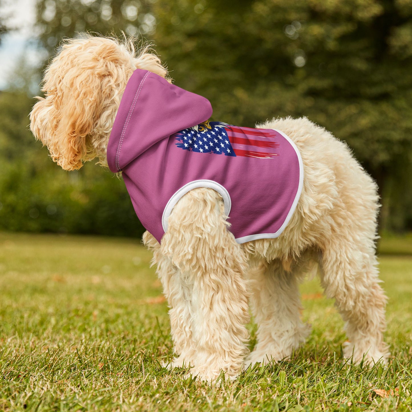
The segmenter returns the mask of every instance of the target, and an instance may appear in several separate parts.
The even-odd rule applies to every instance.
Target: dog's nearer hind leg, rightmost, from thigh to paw
[[[339,167],[338,167],[339,166]],[[386,363],[388,347],[386,296],[379,285],[375,256],[378,197],[372,179],[353,159],[338,164],[338,197],[333,210],[317,222],[321,250],[321,283],[346,323],[349,343],[344,356],[354,363]]]

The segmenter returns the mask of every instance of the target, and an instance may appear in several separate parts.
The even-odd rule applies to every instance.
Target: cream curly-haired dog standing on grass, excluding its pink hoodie
[[[157,83],[166,87],[167,72],[157,56],[148,49],[136,53],[130,40],[85,36],[64,42],[45,71],[45,97],[30,114],[33,134],[54,162],[74,170],[97,158],[107,167],[110,133],[136,69],[148,70],[151,82],[162,77]],[[306,118],[273,119],[258,128],[288,136],[303,165],[302,192],[280,236],[236,242],[222,194],[211,187],[194,187],[180,197],[161,243],[149,232],[143,236],[169,302],[176,353],[171,367],[190,365],[193,376],[211,382],[222,371],[234,379],[245,365],[288,358],[309,334],[300,319],[298,285],[314,262],[325,295],[335,298],[346,322],[344,356],[385,363],[376,184],[344,143]],[[251,353],[249,301],[258,323]]]

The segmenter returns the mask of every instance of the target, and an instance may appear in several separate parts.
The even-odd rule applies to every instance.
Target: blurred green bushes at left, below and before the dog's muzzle
[[[66,172],[33,138],[26,91],[0,92],[0,229],[140,236],[122,180],[92,163]]]

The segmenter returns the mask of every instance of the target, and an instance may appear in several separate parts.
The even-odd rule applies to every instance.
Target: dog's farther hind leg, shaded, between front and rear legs
[[[249,277],[250,304],[258,332],[257,344],[245,365],[289,358],[310,332],[300,319],[298,283],[302,275],[286,271],[280,260],[274,260],[250,269]]]

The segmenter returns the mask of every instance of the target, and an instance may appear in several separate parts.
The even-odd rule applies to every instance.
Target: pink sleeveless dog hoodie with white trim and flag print
[[[275,238],[302,192],[295,144],[279,130],[208,122],[209,101],[147,70],[124,91],[107,159],[122,171],[143,226],[160,242],[178,200],[196,187],[222,195],[238,243]]]

